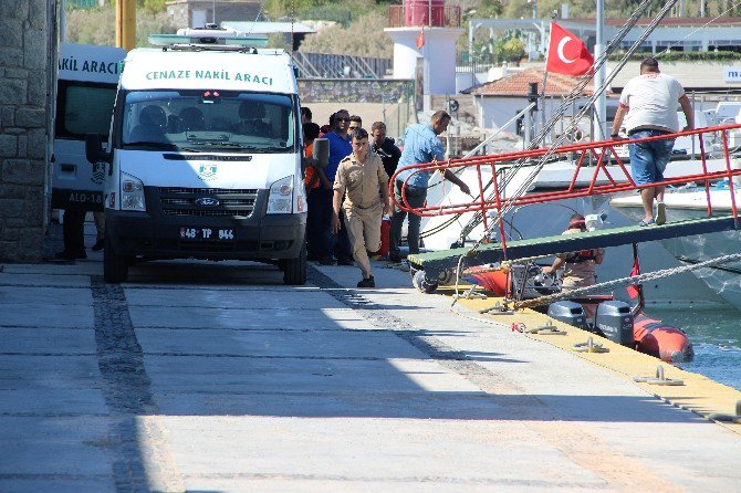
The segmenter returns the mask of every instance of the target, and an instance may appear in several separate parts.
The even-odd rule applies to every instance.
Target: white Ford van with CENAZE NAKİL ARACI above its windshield
[[[107,150],[88,136],[88,158],[107,162],[107,282],[154,259],[257,260],[278,264],[286,284],[306,282],[291,57],[218,44],[213,31],[201,44],[132,50]]]

